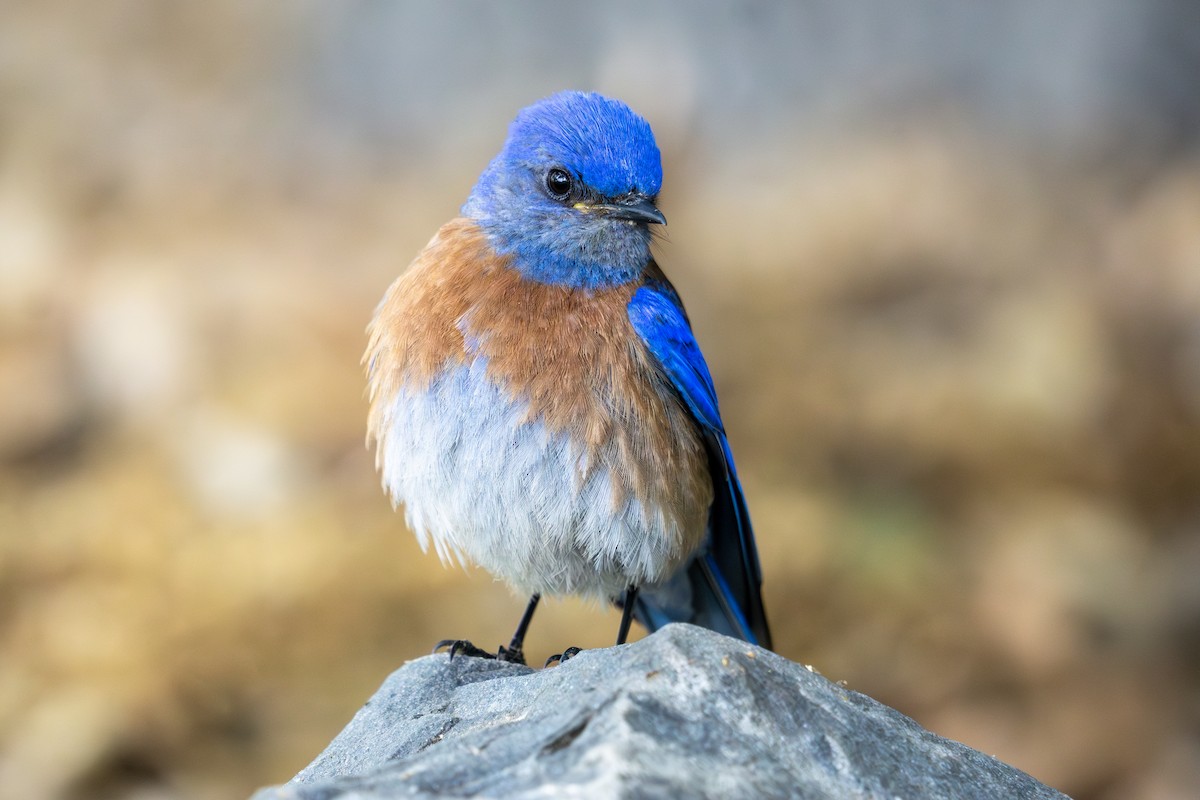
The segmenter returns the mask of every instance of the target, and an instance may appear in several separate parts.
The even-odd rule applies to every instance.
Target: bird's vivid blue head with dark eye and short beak
[[[604,287],[650,259],[662,164],[654,133],[622,102],[564,91],[522,110],[462,213],[544,283]]]

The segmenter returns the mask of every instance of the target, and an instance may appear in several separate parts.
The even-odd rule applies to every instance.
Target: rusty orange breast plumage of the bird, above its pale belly
[[[707,510],[707,457],[629,321],[635,289],[526,279],[473,222],[446,223],[388,290],[371,325],[372,437],[401,387],[420,391],[438,371],[481,357],[488,378],[527,408],[527,422],[580,443],[583,473],[612,471],[614,503],[632,492],[668,513]]]

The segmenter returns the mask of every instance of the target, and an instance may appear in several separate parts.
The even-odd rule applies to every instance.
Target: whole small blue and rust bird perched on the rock
[[[457,217],[367,327],[367,440],[421,549],[528,597],[692,622],[769,649],[762,571],[713,377],[652,254],[649,124],[596,92],[522,109]],[[565,661],[568,648],[552,656]]]

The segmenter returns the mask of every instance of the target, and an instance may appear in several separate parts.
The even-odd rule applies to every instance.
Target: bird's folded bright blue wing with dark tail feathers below
[[[628,313],[634,330],[696,421],[713,476],[704,546],[665,583],[643,588],[634,613],[650,631],[667,622],[692,622],[770,648],[750,512],[725,437],[713,377],[688,314],[674,288],[656,269],[634,293]]]

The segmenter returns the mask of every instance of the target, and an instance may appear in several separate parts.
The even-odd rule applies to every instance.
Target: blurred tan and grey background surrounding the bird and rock
[[[506,640],[379,491],[359,357],[564,88],[658,133],[779,651],[1081,800],[1200,796],[1186,0],[5,2],[0,795],[246,796]]]

